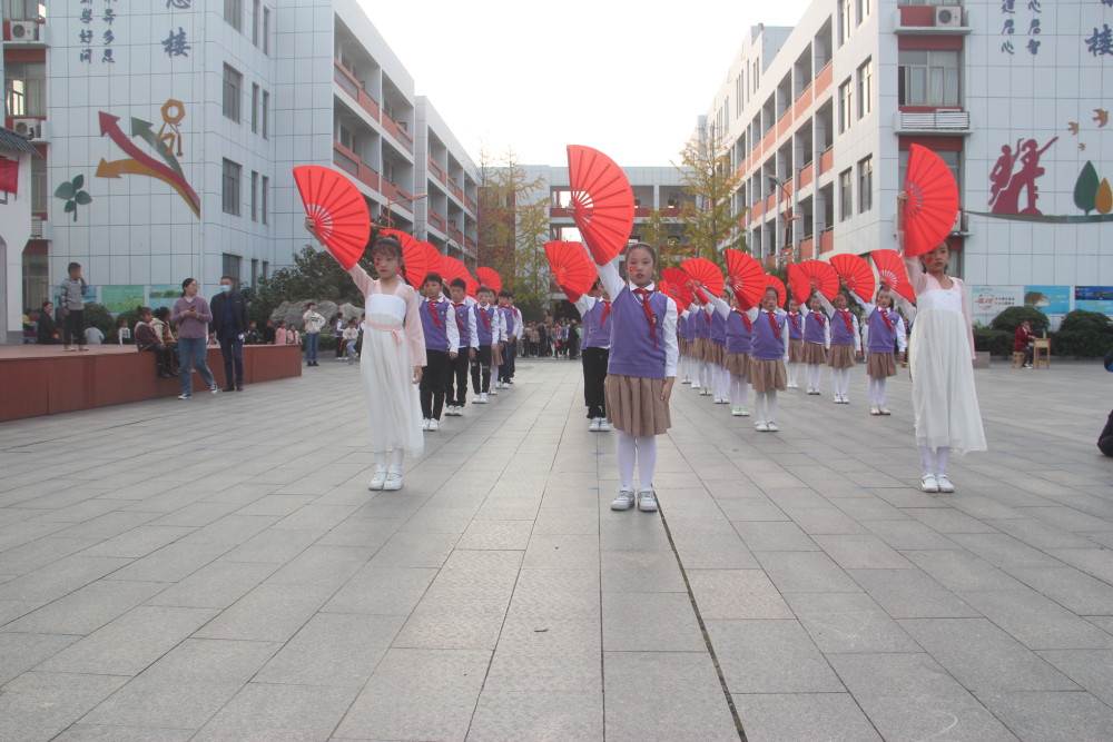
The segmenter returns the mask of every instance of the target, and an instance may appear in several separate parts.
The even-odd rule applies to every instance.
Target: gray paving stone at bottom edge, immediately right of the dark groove
[[[849,693],[752,693],[735,695],[752,742],[853,742],[880,740]]]

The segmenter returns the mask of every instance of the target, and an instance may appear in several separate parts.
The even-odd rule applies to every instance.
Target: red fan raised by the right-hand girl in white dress
[[[958,184],[943,159],[927,147],[908,148],[905,176],[905,245],[907,256],[923,255],[943,243],[958,216]]]

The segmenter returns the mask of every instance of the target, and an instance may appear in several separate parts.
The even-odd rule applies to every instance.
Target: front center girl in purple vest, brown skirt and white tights
[[[613,298],[611,350],[607,365],[607,417],[619,429],[619,494],[611,509],[634,503],[633,466],[641,487],[638,508],[657,511],[653,469],[657,437],[669,429],[669,397],[677,377],[677,305],[657,290],[657,250],[644,243],[627,248],[622,280],[613,263],[599,266],[599,278]]]

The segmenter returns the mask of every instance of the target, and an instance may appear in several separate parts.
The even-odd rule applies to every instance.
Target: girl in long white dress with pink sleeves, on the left
[[[306,219],[305,228],[321,239],[312,219]],[[398,277],[402,246],[393,237],[380,237],[371,257],[378,280],[358,263],[348,269],[366,299],[359,375],[375,454],[370,488],[401,489],[405,455],[420,456],[424,447],[417,385],[425,366],[425,335],[417,291]]]

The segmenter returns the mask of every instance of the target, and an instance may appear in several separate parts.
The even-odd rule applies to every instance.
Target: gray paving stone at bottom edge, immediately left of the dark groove
[[[738,739],[706,653],[608,652],[603,667],[605,739]]]

